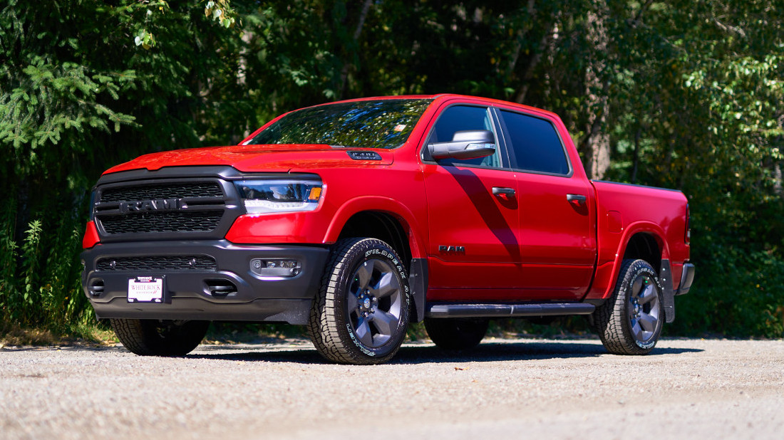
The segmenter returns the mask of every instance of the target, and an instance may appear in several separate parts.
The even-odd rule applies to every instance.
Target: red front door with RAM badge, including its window
[[[430,160],[430,142],[457,131],[489,130],[496,151],[474,160]],[[445,106],[423,146],[423,176],[430,221],[428,299],[514,298],[521,286],[517,179],[499,142],[488,106]]]

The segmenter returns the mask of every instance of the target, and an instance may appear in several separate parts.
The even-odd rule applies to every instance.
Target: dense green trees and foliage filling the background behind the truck
[[[67,327],[89,187],[357,96],[556,111],[594,178],[682,189],[679,334],[784,334],[781,0],[0,1],[0,319]],[[645,203],[640,200],[640,203]]]

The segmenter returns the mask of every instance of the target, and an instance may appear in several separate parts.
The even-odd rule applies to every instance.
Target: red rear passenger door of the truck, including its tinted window
[[[517,177],[524,299],[582,298],[593,276],[593,190],[546,114],[495,109]]]

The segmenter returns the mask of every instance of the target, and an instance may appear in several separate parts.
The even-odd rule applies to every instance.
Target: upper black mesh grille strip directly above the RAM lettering
[[[104,189],[101,203],[128,202],[136,200],[184,199],[196,197],[223,197],[216,182],[165,183],[156,185],[123,186]]]

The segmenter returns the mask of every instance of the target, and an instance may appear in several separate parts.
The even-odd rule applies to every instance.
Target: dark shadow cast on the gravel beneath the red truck
[[[213,346],[201,346],[202,352]],[[252,348],[248,345],[226,346],[218,345],[212,348],[221,353],[198,353],[187,355],[188,359],[216,359],[246,362],[296,362],[307,364],[332,364],[321,358],[314,348],[294,348],[281,350],[270,346]],[[248,351],[251,349],[252,351]],[[236,350],[236,353],[226,351]],[[656,355],[681,355],[683,353],[702,352],[697,348],[655,348],[648,356]],[[598,344],[580,342],[520,342],[520,343],[485,343],[473,350],[464,352],[450,352],[432,345],[422,347],[402,347],[397,355],[388,363],[390,364],[421,364],[445,362],[499,362],[514,360],[537,359],[579,359],[592,358],[606,355],[607,352]]]

